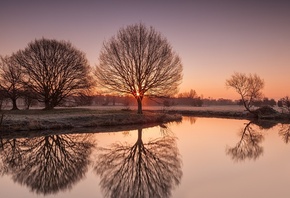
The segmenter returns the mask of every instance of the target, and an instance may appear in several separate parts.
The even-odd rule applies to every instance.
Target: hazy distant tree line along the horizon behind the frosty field
[[[191,90],[192,91],[192,90]],[[190,92],[191,92],[190,91]],[[186,94],[189,92],[183,92],[174,97],[160,97],[160,98],[145,98],[143,101],[144,106],[223,106],[223,105],[241,105],[243,102],[241,100],[231,100],[224,98],[203,98],[203,96],[196,95],[195,97],[188,97]],[[280,100],[279,100],[280,101]],[[279,103],[278,101],[278,103]],[[255,107],[262,106],[275,106],[278,104],[274,99],[263,98],[261,100],[255,101]],[[290,102],[289,102],[290,104]],[[136,100],[130,95],[110,95],[110,94],[97,94],[90,96],[75,96],[67,98],[63,106],[134,106],[136,105]],[[279,105],[279,104],[278,104]],[[290,109],[290,106],[289,106]]]

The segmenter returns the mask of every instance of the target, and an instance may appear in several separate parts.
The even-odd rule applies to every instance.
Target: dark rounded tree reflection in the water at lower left
[[[93,147],[89,134],[2,140],[2,166],[33,192],[57,193],[83,178]]]

